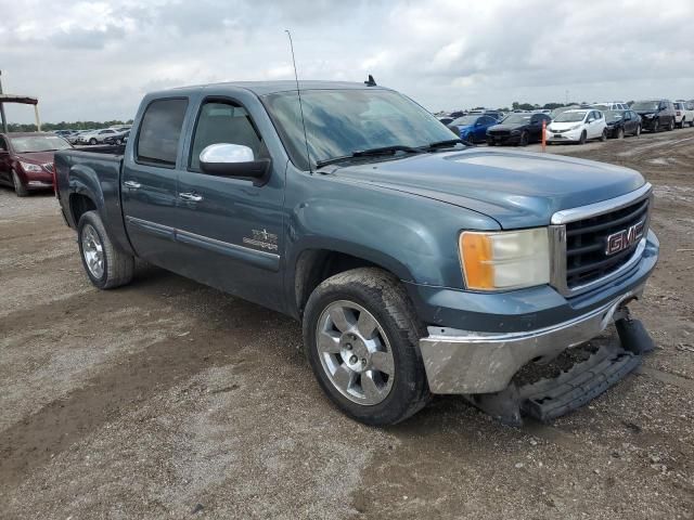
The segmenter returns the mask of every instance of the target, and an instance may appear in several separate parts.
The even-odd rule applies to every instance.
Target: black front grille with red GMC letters
[[[566,224],[566,287],[573,289],[618,271],[633,256],[648,225],[650,198]],[[608,252],[608,238],[615,246]]]

